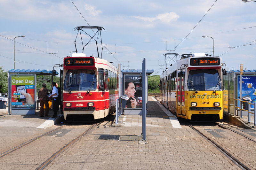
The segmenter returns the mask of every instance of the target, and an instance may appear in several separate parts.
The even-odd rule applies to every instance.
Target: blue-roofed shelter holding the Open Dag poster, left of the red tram
[[[58,72],[52,73],[52,70],[10,70],[8,72],[8,114],[36,114],[36,75],[58,74]]]

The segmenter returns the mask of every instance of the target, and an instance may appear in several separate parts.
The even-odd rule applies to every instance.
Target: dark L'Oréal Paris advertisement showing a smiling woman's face
[[[123,91],[129,97],[126,108],[142,108],[142,75],[124,75]]]

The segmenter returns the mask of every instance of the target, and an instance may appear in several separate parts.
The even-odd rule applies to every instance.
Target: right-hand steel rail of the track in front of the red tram
[[[101,123],[101,122],[100,122]],[[63,148],[61,148],[59,151],[57,151],[56,153],[54,153],[50,158],[48,158],[46,161],[44,161],[40,166],[38,166],[36,168],[36,170],[41,170],[44,169],[47,165],[49,165],[52,160],[56,157],[58,157],[62,152],[66,151],[70,146],[72,146],[74,143],[76,143],[76,141],[78,141],[78,139],[80,139],[83,135],[85,135],[86,133],[88,133],[92,128],[94,128],[96,125],[99,125],[100,123],[95,123],[94,125],[92,125],[89,129],[87,129],[83,134],[79,135],[78,137],[76,137],[75,139],[73,139],[71,142],[69,142],[66,146],[64,146]]]

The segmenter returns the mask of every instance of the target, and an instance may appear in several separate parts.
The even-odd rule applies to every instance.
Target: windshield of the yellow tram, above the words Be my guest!
[[[221,90],[221,80],[218,70],[190,70],[188,74],[188,90]]]

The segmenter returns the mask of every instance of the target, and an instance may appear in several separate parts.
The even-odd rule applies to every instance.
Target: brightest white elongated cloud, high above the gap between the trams
[[[140,17],[140,16],[134,16],[134,18],[146,21],[146,22],[153,22],[156,20],[160,20],[162,22],[170,23],[171,21],[175,21],[179,18],[179,15],[177,15],[175,12],[167,12],[163,14],[158,14],[156,17]]]

